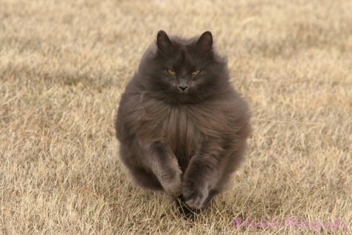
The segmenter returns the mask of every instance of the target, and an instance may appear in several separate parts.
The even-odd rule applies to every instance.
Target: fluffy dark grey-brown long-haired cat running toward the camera
[[[120,158],[140,186],[204,208],[239,166],[249,120],[212,34],[169,38],[161,30],[120,100]]]

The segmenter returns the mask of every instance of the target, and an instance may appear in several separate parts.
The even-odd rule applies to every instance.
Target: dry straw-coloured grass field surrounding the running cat
[[[213,32],[253,114],[194,221],[118,158],[120,95],[161,29]],[[349,234],[351,117],[351,0],[1,0],[0,234]]]

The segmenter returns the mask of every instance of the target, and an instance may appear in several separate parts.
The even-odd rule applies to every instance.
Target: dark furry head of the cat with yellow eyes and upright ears
[[[151,96],[168,103],[196,103],[221,94],[228,84],[225,58],[213,50],[213,35],[181,39],[158,32],[139,77]]]

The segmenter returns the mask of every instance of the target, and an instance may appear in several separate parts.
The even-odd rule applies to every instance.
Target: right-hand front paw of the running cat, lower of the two
[[[186,204],[192,209],[201,209],[206,205],[209,191],[206,187],[196,186],[196,184],[188,183],[182,190],[182,196]]]

